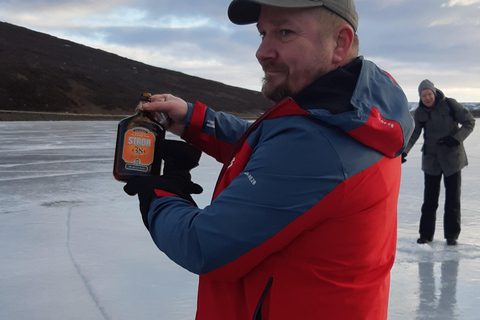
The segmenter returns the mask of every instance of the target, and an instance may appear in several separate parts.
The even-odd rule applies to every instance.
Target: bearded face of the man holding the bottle
[[[311,9],[262,6],[257,59],[265,72],[263,94],[278,102],[334,69],[335,41],[321,30]]]

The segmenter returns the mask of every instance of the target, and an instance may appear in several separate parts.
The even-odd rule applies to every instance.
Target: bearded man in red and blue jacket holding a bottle
[[[153,96],[144,109],[224,167],[204,209],[188,174],[126,191],[150,205],[158,248],[200,275],[197,320],[387,319],[405,95],[357,57],[353,0],[234,0],[228,13],[257,23],[262,91],[277,104],[250,125]]]

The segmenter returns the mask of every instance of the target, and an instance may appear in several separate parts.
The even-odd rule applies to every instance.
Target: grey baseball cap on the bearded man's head
[[[258,22],[261,6],[281,8],[325,7],[345,19],[355,32],[358,13],[354,0],[233,0],[228,7],[228,17],[235,24]]]

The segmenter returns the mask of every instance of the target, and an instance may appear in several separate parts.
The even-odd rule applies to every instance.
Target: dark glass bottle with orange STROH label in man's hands
[[[148,112],[142,111],[150,93],[142,93],[137,112],[118,123],[113,176],[127,182],[137,176],[160,175],[162,161],[159,144],[165,129]]]

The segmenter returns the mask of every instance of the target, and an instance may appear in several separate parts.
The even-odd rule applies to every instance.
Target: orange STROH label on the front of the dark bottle
[[[155,153],[155,135],[145,128],[132,128],[125,133],[123,142],[123,161],[139,166],[138,171],[144,171],[140,167],[146,167],[153,163]],[[131,168],[132,169],[132,168]]]

